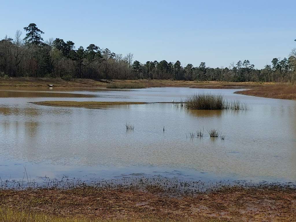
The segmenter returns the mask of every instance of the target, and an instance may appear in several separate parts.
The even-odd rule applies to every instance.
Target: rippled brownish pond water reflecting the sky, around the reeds
[[[0,90],[0,176],[33,179],[156,175],[192,180],[296,180],[296,102],[233,89]],[[199,92],[246,102],[249,111],[184,110],[175,104],[50,107],[48,100],[170,102]],[[125,123],[134,131],[127,132]],[[165,126],[165,131],[163,131]],[[189,132],[204,128],[202,139]],[[225,140],[211,139],[215,128]],[[187,135],[187,138],[186,138]]]

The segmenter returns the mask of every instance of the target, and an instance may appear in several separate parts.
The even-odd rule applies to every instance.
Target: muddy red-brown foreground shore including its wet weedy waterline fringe
[[[25,174],[26,175],[26,174]],[[24,178],[27,178],[26,176]],[[82,221],[293,221],[295,183],[182,181],[123,177],[82,181],[64,177],[3,181],[2,208]],[[14,183],[13,186],[8,184]],[[4,208],[3,208],[4,209]],[[70,220],[72,221],[72,220]],[[78,220],[80,221],[80,220]]]

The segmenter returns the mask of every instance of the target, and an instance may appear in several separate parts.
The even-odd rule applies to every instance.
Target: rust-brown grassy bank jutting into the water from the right
[[[246,91],[237,91],[237,94],[259,96],[274,99],[296,99],[296,86],[291,84],[266,85]]]

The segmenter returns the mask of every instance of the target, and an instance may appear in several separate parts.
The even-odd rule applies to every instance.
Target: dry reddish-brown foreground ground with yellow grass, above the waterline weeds
[[[155,190],[155,189],[153,189]],[[135,189],[2,191],[0,222],[295,221],[294,190],[229,188],[180,197]]]

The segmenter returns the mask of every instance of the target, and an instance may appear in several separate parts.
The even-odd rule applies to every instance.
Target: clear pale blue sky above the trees
[[[44,40],[95,44],[134,59],[262,68],[296,47],[296,1],[4,1],[0,37],[36,23]]]

